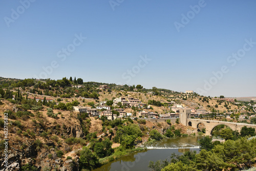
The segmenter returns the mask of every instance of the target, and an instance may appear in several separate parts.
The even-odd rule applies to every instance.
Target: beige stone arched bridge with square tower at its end
[[[242,127],[244,127],[244,126],[254,127],[256,130],[255,124],[225,122],[225,121],[218,121],[218,120],[191,119],[190,118],[190,110],[188,110],[188,109],[184,109],[180,113],[180,123],[182,123],[186,126],[194,127],[196,129],[198,129],[198,125],[201,123],[205,126],[205,135],[209,135],[209,136],[211,135],[212,130],[216,126],[222,125],[222,124],[230,127],[231,130],[238,131],[238,132],[240,132]]]

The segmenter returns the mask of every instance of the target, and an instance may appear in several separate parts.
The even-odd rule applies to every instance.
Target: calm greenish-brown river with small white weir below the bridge
[[[169,159],[170,155],[182,154],[186,151],[199,152],[198,140],[202,136],[168,138],[145,145],[147,151],[136,152],[128,156],[121,157],[108,164],[105,164],[93,171],[144,171],[150,161]]]

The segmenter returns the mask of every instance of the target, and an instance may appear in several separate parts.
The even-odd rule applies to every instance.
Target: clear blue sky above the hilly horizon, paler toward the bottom
[[[256,1],[28,2],[0,2],[2,77],[256,96]]]

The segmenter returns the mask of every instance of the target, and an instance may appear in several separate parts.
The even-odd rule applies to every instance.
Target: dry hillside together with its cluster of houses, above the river
[[[97,154],[104,158],[113,154],[114,149],[132,149],[152,141],[152,130],[165,137],[204,134],[205,125],[195,129],[180,123],[184,110],[191,119],[256,123],[254,100],[206,97],[194,91],[175,92],[156,87],[145,89],[141,85],[83,82],[76,77],[60,80],[0,77],[0,99],[0,146],[5,149],[3,126],[4,115],[8,114],[10,170],[25,166],[77,170],[83,146],[89,146],[97,154],[91,145],[108,143],[104,149],[110,151],[104,156]],[[125,142],[119,137],[123,126],[134,129],[136,136],[127,133]],[[172,130],[171,135],[168,130]],[[4,158],[0,161],[3,163]]]

